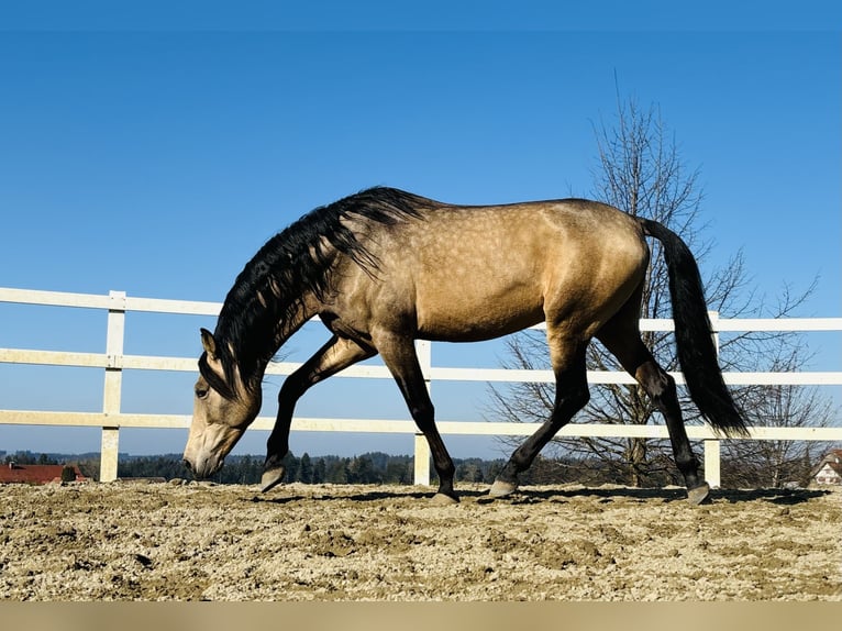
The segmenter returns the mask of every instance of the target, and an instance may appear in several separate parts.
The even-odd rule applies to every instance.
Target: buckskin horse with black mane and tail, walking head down
[[[185,465],[197,478],[222,467],[261,410],[268,363],[319,317],[331,337],[280,388],[261,489],[284,478],[298,399],[379,354],[430,445],[439,475],[433,501],[456,502],[453,461],[435,425],[414,340],[489,340],[544,321],[554,407],[511,454],[489,495],[514,492],[519,474],[588,402],[586,348],[596,337],[663,414],[689,501],[709,500],[675,380],[640,335],[646,237],[662,244],[690,398],[717,433],[744,436],[745,422],[718,364],[698,265],[673,231],[592,200],[455,206],[375,187],[319,207],[269,239],[236,277],[213,333],[200,330],[203,352]]]

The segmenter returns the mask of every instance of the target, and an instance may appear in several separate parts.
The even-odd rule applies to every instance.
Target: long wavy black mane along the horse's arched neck
[[[391,225],[418,218],[419,210],[431,203],[398,189],[375,187],[310,211],[266,242],[237,276],[217,321],[213,336],[226,384],[209,369],[206,355],[199,359],[211,387],[234,398],[230,384],[237,367],[246,388],[259,387],[262,368],[277,352],[279,333],[304,296],[323,299],[330,291],[328,272],[337,255],[347,256],[368,274],[376,273],[378,262],[366,248],[364,235],[343,219]]]

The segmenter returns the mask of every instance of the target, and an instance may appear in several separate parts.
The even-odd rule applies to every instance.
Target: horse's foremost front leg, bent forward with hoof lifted
[[[266,442],[266,461],[263,464],[261,490],[267,491],[284,480],[284,457],[289,453],[289,429],[296,403],[314,384],[335,375],[343,368],[374,355],[374,351],[353,340],[334,335],[289,375],[278,392],[278,414],[275,427]]]

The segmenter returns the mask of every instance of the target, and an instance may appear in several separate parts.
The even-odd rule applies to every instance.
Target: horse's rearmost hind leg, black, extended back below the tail
[[[684,427],[675,379],[655,362],[641,341],[636,317],[632,320],[619,316],[597,333],[597,339],[617,356],[664,416],[675,464],[687,485],[688,499],[691,503],[701,503],[709,497],[710,487],[699,477],[699,461],[693,453]]]

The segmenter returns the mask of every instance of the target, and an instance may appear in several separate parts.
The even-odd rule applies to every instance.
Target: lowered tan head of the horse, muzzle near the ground
[[[185,465],[200,479],[222,468],[262,402],[259,387],[246,388],[239,370],[224,369],[213,334],[202,329],[201,336],[204,354],[199,359],[201,374],[193,391],[193,418],[184,454]]]

